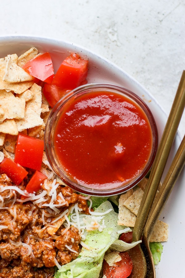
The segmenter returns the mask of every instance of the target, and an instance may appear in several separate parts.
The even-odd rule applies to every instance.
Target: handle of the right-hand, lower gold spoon
[[[167,172],[167,175],[162,183],[162,186],[154,200],[152,208],[150,210],[146,225],[144,228],[144,234],[149,240],[153,227],[158,220],[158,217],[165,206],[171,191],[178,179],[183,167],[185,165],[185,136],[179,146],[179,149],[171,163],[171,166]]]

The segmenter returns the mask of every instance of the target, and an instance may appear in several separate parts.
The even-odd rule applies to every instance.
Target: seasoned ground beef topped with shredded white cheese
[[[71,188],[47,180],[34,194],[36,199],[22,199],[25,186],[17,190],[6,175],[0,176],[0,277],[50,278],[56,266],[79,255],[79,231],[63,226],[60,215],[76,203],[88,213],[87,201]]]

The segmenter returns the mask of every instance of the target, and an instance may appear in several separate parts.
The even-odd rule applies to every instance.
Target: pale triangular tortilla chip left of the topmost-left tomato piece
[[[5,74],[3,76],[3,81],[10,83],[17,83],[23,81],[33,80],[34,77],[28,74],[25,70],[19,67],[14,61],[11,60],[11,56],[8,55],[8,60],[6,62]]]

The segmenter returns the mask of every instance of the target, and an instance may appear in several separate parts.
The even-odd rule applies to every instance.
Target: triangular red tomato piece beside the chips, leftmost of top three
[[[23,65],[23,69],[31,76],[34,76],[44,82],[51,83],[53,80],[53,63],[48,52],[36,56],[28,61],[25,65]]]

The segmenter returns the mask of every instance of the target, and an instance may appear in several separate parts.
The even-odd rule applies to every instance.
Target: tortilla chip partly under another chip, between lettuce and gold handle
[[[118,213],[118,225],[134,227],[136,221],[136,215],[132,213],[128,208],[124,206],[125,201],[133,194],[133,189],[130,189],[125,194],[122,194],[119,198],[119,213]]]

